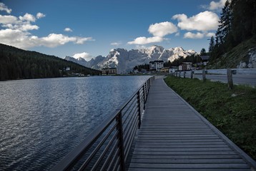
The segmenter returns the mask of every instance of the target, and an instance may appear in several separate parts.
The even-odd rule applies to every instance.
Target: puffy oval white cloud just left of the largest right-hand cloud
[[[164,37],[167,34],[176,33],[178,31],[177,26],[171,22],[162,22],[151,24],[148,29],[149,33],[152,33],[153,36]]]

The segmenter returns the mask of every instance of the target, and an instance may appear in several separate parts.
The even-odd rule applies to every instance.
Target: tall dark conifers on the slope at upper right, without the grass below
[[[210,38],[211,62],[243,41],[256,39],[256,1],[227,0],[219,23],[215,37]]]

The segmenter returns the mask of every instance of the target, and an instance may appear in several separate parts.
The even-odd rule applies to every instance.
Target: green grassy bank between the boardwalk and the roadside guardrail
[[[256,160],[256,88],[168,76],[169,87]]]

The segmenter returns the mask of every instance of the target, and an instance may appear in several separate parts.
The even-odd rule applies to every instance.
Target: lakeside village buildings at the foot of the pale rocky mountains
[[[205,68],[209,62],[210,56],[200,56],[200,62],[182,62],[178,66],[165,66],[164,61],[150,61],[142,65],[143,67],[135,66],[131,73],[174,73],[175,71],[191,71]],[[116,75],[117,68],[102,68],[102,75]]]

